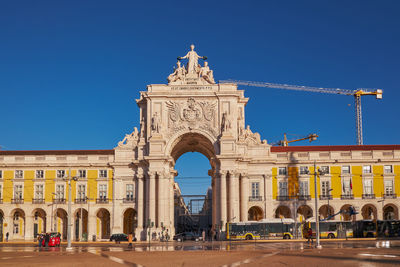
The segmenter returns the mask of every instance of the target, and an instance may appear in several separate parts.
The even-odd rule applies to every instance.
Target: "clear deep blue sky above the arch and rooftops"
[[[216,80],[383,88],[362,100],[364,143],[399,144],[399,14],[399,1],[1,1],[0,145],[113,148],[139,126],[139,91],[191,43]],[[355,144],[351,96],[243,89],[262,139]]]

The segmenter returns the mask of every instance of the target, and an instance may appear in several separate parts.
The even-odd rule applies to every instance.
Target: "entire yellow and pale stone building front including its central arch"
[[[31,240],[57,231],[65,237],[65,178],[73,176],[75,239],[134,232],[145,240],[150,227],[173,235],[179,194],[174,166],[193,151],[210,161],[210,228],[263,218],[302,220],[315,210],[330,217],[350,206],[359,212],[356,218],[343,213],[335,219],[398,219],[400,145],[272,147],[246,126],[244,91],[215,83],[208,63],[199,64],[202,58],[191,47],[168,84],[140,92],[140,127],[112,150],[0,151],[1,234]]]

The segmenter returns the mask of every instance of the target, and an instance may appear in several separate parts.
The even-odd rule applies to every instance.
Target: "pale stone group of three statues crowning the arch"
[[[181,65],[181,60],[187,59],[186,68]],[[204,66],[199,64],[199,59],[207,60],[207,57],[199,56],[194,51],[194,45],[190,46],[190,51],[184,57],[178,57],[177,67],[167,80],[168,84],[215,84],[213,71],[210,70],[208,62],[204,61]]]

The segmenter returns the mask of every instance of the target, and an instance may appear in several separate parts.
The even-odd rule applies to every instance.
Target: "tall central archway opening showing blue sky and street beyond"
[[[175,231],[204,230],[208,233],[213,226],[215,192],[212,191],[212,171],[209,171],[215,169],[214,146],[202,134],[187,133],[179,136],[171,147],[174,159],[171,167],[177,171],[174,178]]]

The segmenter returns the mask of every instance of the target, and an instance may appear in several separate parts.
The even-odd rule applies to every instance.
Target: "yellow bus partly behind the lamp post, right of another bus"
[[[307,220],[303,225],[303,237],[306,237],[305,229],[309,228],[313,230],[313,236],[315,236],[316,227],[315,221],[312,221],[312,218]],[[320,221],[319,222],[319,232],[320,238],[346,238],[353,237],[353,226],[350,221],[339,221],[339,220],[330,220],[330,221]]]

